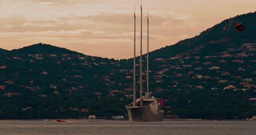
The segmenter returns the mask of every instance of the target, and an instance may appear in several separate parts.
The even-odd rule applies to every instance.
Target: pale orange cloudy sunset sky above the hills
[[[141,0],[0,0],[0,48],[39,42],[106,58],[137,55]],[[256,0],[143,0],[143,53],[149,10],[150,51],[173,45],[236,15],[255,12]]]

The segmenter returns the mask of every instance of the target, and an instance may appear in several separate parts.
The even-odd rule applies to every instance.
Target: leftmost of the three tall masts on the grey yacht
[[[133,106],[136,106],[136,71],[135,71],[135,27],[136,17],[134,12],[134,59],[133,59]]]

